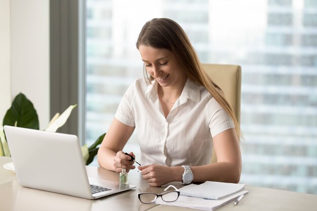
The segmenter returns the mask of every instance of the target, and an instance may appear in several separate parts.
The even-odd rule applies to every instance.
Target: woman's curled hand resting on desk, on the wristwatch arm
[[[147,180],[150,186],[159,187],[173,181],[169,166],[145,165],[138,168],[142,172],[142,178]]]

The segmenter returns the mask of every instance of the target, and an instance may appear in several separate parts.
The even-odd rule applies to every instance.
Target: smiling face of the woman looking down
[[[171,51],[140,45],[139,52],[147,73],[162,87],[184,87],[187,76]]]

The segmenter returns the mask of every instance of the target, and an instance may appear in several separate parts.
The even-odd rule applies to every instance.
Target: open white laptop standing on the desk
[[[21,186],[87,199],[136,187],[88,178],[77,136],[8,125],[4,129]]]

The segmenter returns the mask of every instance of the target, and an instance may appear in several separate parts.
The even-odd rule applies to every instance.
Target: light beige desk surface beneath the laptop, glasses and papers
[[[14,172],[3,168],[7,162],[11,162],[11,158],[0,157],[0,210],[193,210],[167,205],[142,204],[136,196],[136,190],[128,190],[97,200],[88,200],[24,188],[18,184]],[[118,181],[117,173],[100,167],[87,166],[86,168],[89,177]],[[142,179],[141,174],[136,171],[129,173],[129,183],[136,185],[144,192],[161,193],[164,189],[164,187],[150,187]],[[182,187],[178,182],[171,184],[177,188]],[[246,186],[245,190],[249,190],[249,193],[238,205],[233,206],[233,203],[230,202],[218,208],[217,211],[315,210],[317,207],[317,195],[252,186]]]

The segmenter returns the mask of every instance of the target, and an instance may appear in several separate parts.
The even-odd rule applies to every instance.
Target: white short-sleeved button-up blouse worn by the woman
[[[157,96],[157,81],[137,79],[126,91],[115,114],[135,126],[142,165],[205,165],[212,156],[212,137],[234,128],[228,113],[205,87],[187,79],[167,118]]]

